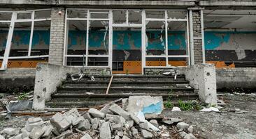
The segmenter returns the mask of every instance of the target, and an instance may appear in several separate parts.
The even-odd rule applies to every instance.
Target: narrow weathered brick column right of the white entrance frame
[[[192,10],[194,64],[203,63],[203,44],[201,33],[201,10]]]

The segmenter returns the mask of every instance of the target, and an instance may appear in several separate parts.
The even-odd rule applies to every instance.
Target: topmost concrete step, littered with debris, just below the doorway
[[[74,78],[78,79],[79,76],[73,76]],[[111,79],[111,75],[101,76],[96,75],[94,76],[96,81],[109,81]],[[71,78],[67,79],[71,81]],[[89,77],[83,77],[80,81],[90,81]],[[115,75],[113,81],[174,81],[174,76],[168,75]],[[176,81],[185,81],[185,75],[178,75]]]

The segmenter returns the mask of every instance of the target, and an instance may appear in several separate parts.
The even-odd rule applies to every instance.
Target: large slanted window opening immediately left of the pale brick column
[[[49,54],[50,21],[34,22],[34,31],[31,44],[31,56]]]

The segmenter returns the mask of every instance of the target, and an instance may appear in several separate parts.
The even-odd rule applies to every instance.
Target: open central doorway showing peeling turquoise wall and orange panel
[[[113,27],[113,74],[141,74],[141,28]]]

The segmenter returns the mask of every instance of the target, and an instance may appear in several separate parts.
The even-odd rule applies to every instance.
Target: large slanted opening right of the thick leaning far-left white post
[[[31,22],[16,22],[10,47],[10,56],[28,56]]]

